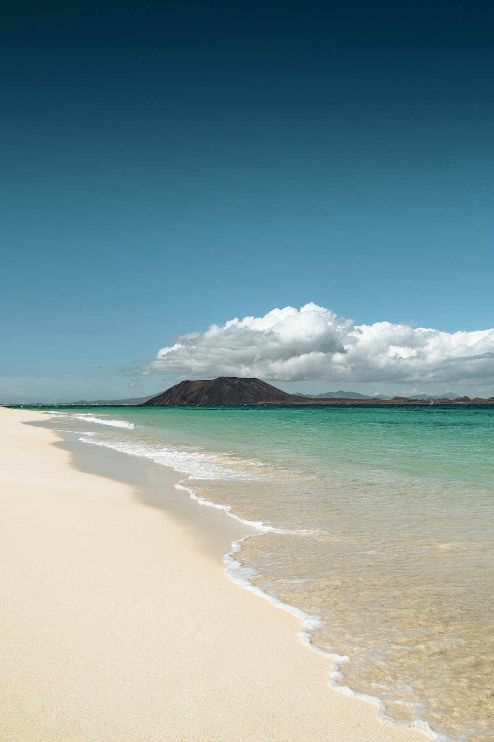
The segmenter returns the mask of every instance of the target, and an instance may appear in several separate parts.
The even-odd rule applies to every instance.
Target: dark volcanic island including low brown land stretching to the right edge
[[[247,404],[283,404],[283,405],[394,405],[394,404],[494,404],[494,397],[482,399],[475,397],[447,398],[409,398],[364,397],[352,393],[352,397],[317,397],[289,394],[283,392],[259,378],[239,378],[237,376],[219,376],[200,381],[180,381],[174,387],[157,394],[142,404],[142,407],[234,407]],[[354,396],[355,395],[355,396]],[[422,395],[421,395],[422,396]]]

